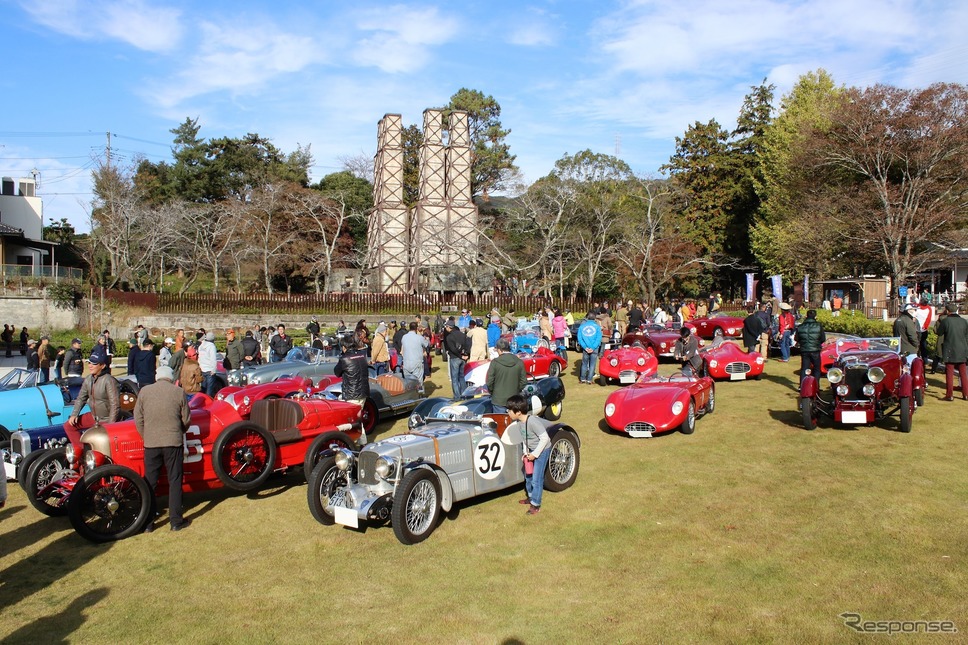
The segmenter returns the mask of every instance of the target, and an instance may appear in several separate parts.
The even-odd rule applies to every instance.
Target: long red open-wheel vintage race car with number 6
[[[331,446],[356,449],[360,407],[344,401],[263,399],[248,420],[225,401],[196,394],[185,434],[184,490],[220,488],[248,492],[273,472],[301,466],[308,473]],[[74,529],[94,542],[140,533],[152,521],[154,495],[144,480],[144,444],[134,421],[86,430],[66,449],[45,459],[63,458],[70,467],[31,500],[48,515],[66,513]],[[56,452],[59,451],[59,454]],[[35,467],[41,467],[36,466]]]

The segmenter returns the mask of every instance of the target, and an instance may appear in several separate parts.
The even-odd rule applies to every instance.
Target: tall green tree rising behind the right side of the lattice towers
[[[485,201],[491,192],[500,190],[514,176],[518,168],[515,156],[505,142],[511,133],[501,126],[501,105],[492,96],[478,90],[461,88],[450,97],[443,108],[449,116],[463,110],[468,116],[471,144],[471,197],[480,195]]]

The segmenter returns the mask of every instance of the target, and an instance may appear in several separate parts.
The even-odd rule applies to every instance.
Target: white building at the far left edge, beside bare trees
[[[43,240],[43,202],[33,179],[4,177],[0,184],[0,264],[2,273],[51,275],[54,242]]]

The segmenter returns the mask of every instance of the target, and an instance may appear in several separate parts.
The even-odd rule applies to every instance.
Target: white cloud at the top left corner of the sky
[[[152,52],[170,51],[182,35],[178,9],[146,0],[44,0],[22,2],[38,23],[81,40],[113,39]]]

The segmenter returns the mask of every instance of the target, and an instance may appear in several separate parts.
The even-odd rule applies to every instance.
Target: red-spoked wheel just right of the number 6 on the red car
[[[222,431],[212,447],[212,467],[227,488],[243,493],[256,490],[269,479],[276,463],[275,439],[249,421]]]

